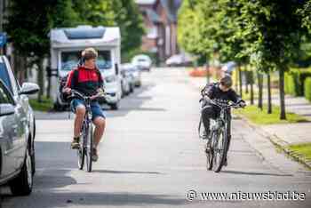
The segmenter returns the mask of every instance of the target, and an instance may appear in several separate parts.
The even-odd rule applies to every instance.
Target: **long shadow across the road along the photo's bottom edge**
[[[32,208],[52,208],[67,206],[92,207],[105,205],[145,205],[153,207],[156,204],[165,204],[166,206],[186,204],[185,198],[170,195],[148,195],[148,194],[131,194],[127,192],[44,192],[40,193],[36,200],[30,197],[14,197],[14,200],[20,200],[23,207]],[[9,198],[12,198],[9,196]],[[47,203],[48,201],[48,203]]]

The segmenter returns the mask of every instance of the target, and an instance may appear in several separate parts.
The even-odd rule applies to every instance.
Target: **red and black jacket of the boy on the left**
[[[75,76],[76,75],[76,76]],[[66,86],[86,96],[97,94],[97,90],[103,87],[103,79],[98,68],[84,68],[80,66],[69,72]]]

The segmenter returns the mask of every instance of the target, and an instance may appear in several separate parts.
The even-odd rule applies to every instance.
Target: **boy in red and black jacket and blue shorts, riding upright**
[[[92,160],[98,160],[98,145],[105,131],[106,116],[100,108],[96,98],[103,92],[103,79],[100,71],[96,68],[98,53],[93,48],[87,48],[82,52],[83,63],[69,72],[68,81],[64,92],[70,93],[71,89],[91,96],[92,122],[95,125],[94,142],[92,149]],[[76,113],[74,139],[71,148],[79,148],[80,132],[84,122],[85,103],[84,100],[74,99],[70,103],[70,108]]]

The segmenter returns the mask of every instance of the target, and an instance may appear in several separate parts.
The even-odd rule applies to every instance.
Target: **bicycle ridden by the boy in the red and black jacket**
[[[71,90],[70,98],[81,99],[84,100],[85,104],[85,116],[84,123],[81,128],[82,140],[80,140],[80,148],[77,149],[78,156],[78,167],[80,170],[84,169],[84,160],[86,157],[86,171],[92,172],[92,154],[93,154],[93,129],[94,126],[92,124],[92,110],[91,110],[91,102],[92,99],[90,96],[85,96],[81,92],[77,92],[75,90]],[[101,93],[104,95],[104,93]]]

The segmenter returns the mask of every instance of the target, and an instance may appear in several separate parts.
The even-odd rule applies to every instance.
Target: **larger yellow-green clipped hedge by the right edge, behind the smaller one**
[[[285,93],[294,96],[303,96],[304,83],[307,77],[311,77],[311,68],[293,68],[285,74]]]

